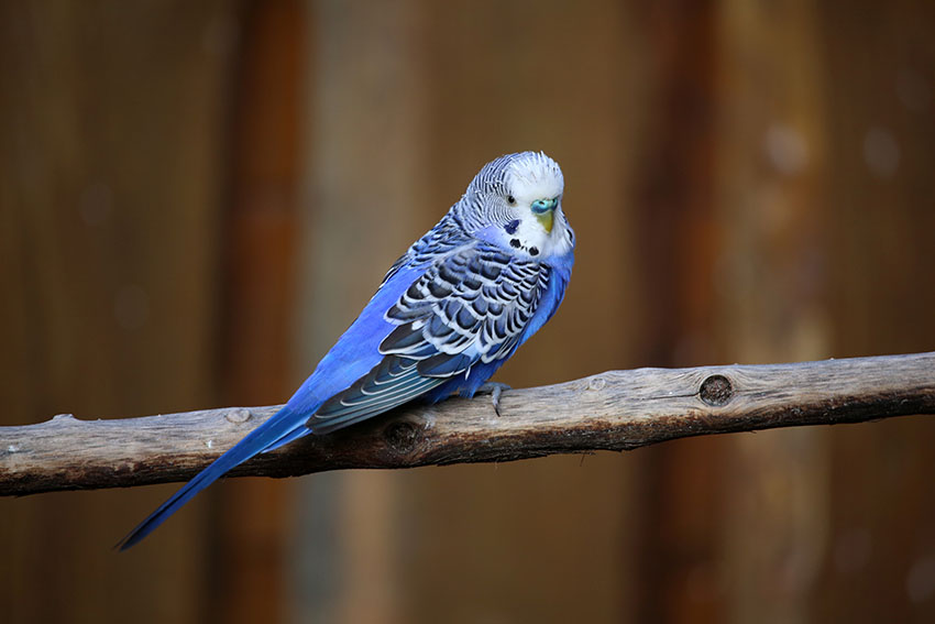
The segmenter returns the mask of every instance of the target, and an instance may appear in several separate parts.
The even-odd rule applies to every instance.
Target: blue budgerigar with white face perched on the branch
[[[117,547],[139,544],[232,468],[414,399],[493,395],[488,382],[556,314],[574,264],[564,178],[543,152],[485,164],[387,271],[356,320],[275,415],[199,472]]]

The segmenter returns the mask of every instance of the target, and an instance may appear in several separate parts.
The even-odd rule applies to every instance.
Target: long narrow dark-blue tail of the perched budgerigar
[[[165,503],[160,505],[146,519],[136,525],[136,528],[131,530],[127,537],[121,539],[117,544],[117,548],[127,550],[133,545],[139,544],[165,522],[167,517],[195,497],[198,492],[221,478],[226,472],[250,458],[268,450],[274,445],[279,446],[276,442],[283,438],[288,437],[289,440],[293,440],[308,431],[307,429],[301,431],[301,429],[305,429],[305,419],[296,418],[296,415],[288,407],[283,407],[268,420],[248,434],[246,437],[234,445],[228,452],[216,459],[208,468],[199,472]]]

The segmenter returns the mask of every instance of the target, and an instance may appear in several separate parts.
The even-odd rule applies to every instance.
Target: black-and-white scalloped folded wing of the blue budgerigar
[[[326,401],[307,426],[326,434],[425,394],[477,362],[505,360],[549,285],[546,264],[481,241],[437,256],[385,318],[381,362]]]

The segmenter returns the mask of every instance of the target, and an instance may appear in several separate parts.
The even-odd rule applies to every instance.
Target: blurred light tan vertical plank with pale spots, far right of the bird
[[[725,2],[717,336],[748,363],[827,358],[825,74],[812,2]],[[827,543],[828,429],[729,440],[717,582],[734,622],[806,622]],[[837,618],[835,618],[837,621]]]

